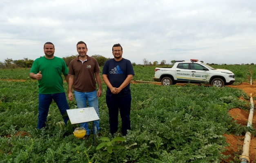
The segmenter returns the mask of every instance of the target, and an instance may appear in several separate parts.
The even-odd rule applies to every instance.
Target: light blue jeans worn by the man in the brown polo
[[[89,107],[93,107],[98,115],[98,117],[100,118],[100,114],[99,114],[99,101],[98,101],[98,96],[97,96],[97,91],[94,90],[92,92],[78,92],[76,90],[74,90],[74,95],[75,95],[75,99],[76,99],[76,104],[77,104],[77,108],[87,108],[87,102]],[[97,131],[100,130],[100,120],[98,121],[93,121],[93,126],[96,125]],[[81,127],[84,127],[86,130],[86,134],[89,135],[90,134],[90,129],[88,126],[88,123],[81,123],[80,124]],[[94,131],[94,134],[96,134],[96,131]]]

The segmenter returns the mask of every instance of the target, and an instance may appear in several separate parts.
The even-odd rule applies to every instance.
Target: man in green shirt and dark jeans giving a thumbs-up
[[[51,101],[54,100],[60,110],[61,115],[64,115],[69,109],[65,91],[63,88],[62,73],[66,81],[69,81],[67,65],[62,58],[55,57],[55,48],[53,43],[46,42],[44,45],[45,56],[36,59],[31,67],[29,77],[38,80],[39,87],[39,105],[38,105],[38,126],[43,128],[46,126],[47,115]],[[67,125],[69,118],[65,118],[64,122]]]

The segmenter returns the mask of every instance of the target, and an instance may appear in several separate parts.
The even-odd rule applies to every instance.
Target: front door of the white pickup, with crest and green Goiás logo
[[[197,63],[191,63],[190,66],[191,81],[209,81],[209,70],[203,70],[204,66]]]

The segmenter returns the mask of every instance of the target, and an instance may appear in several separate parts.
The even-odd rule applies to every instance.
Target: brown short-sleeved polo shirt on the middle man
[[[95,73],[100,72],[100,67],[95,58],[87,55],[87,61],[80,61],[79,55],[69,64],[69,75],[75,75],[73,89],[78,92],[92,92],[97,89]]]

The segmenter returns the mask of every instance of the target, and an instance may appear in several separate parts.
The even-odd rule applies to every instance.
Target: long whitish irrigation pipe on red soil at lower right
[[[250,94],[250,103],[251,103],[251,109],[248,117],[248,123],[247,127],[252,126],[252,120],[253,120],[253,112],[254,112],[254,103],[253,103],[253,98],[252,98],[252,93]],[[244,145],[243,145],[243,153],[240,156],[240,163],[249,163],[249,148],[250,148],[250,142],[251,142],[251,133],[246,132],[245,133],[245,140],[244,140]]]

